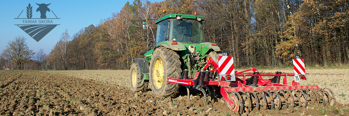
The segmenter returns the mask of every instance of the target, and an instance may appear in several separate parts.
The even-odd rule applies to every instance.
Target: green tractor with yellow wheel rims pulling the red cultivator
[[[145,53],[144,59],[133,59],[131,90],[145,92],[150,86],[155,95],[173,98],[179,85],[166,82],[167,78],[180,78],[184,70],[188,78],[194,78],[207,57],[218,61],[221,49],[215,43],[205,42],[204,20],[203,16],[185,14],[169,14],[156,20],[156,39],[150,41],[152,47],[155,44],[154,49]],[[146,29],[145,21],[143,29]]]

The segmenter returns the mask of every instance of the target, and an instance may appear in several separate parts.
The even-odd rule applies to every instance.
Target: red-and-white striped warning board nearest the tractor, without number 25
[[[218,56],[218,71],[222,75],[234,75],[233,56]]]

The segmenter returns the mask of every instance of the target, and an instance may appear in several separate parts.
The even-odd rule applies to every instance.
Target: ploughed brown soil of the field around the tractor
[[[260,70],[261,71],[261,70]],[[263,71],[267,72],[267,71]],[[274,72],[274,71],[270,71]],[[320,71],[321,72],[321,71]],[[329,74],[322,71],[319,74]],[[262,73],[262,72],[261,72]],[[310,71],[309,71],[310,73]],[[80,75],[77,75],[80,74]],[[151,91],[132,92],[128,87],[129,70],[107,71],[0,71],[0,116],[4,115],[235,115],[225,101],[218,95],[209,105],[203,104],[200,92],[191,90],[191,101],[187,102],[186,90],[181,88],[177,98],[156,97]],[[310,74],[311,75],[311,74]],[[319,81],[307,75],[308,80],[302,83]],[[335,74],[339,85],[348,85],[348,71],[342,76]],[[288,79],[289,81],[292,79]],[[330,80],[324,79],[327,86]],[[309,83],[311,84],[311,83]],[[332,83],[331,83],[332,84]],[[332,84],[333,85],[333,84]],[[324,85],[322,85],[324,86]],[[322,87],[320,86],[320,87]],[[329,86],[330,89],[333,90]],[[345,90],[345,88],[343,88]],[[347,90],[346,90],[347,91]],[[335,92],[335,90],[334,90]],[[335,92],[336,93],[336,92]],[[338,93],[338,92],[337,92]],[[348,93],[349,94],[349,93]],[[348,97],[345,95],[344,97]],[[335,96],[337,98],[337,96]],[[342,99],[342,98],[337,98]],[[339,100],[340,101],[340,100]],[[345,100],[342,101],[348,104]],[[289,108],[287,110],[260,110],[257,113],[243,115],[349,115],[349,105],[337,103],[335,106],[313,105],[306,108]]]

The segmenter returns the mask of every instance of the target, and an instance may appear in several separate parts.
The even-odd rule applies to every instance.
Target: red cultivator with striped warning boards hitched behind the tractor
[[[188,70],[184,70],[180,78],[168,78],[167,82],[187,87],[188,100],[189,87],[202,91],[205,103],[207,103],[207,98],[204,88],[211,100],[212,96],[215,96],[215,90],[220,87],[226,105],[240,114],[259,109],[280,110],[288,107],[306,107],[312,104],[333,106],[335,103],[334,94],[328,88],[319,88],[317,85],[300,86],[297,83],[299,80],[306,80],[303,59],[293,59],[295,74],[292,75],[281,74],[280,71],[277,71],[275,75],[261,75],[255,68],[237,72],[234,70],[231,56],[219,56],[218,60],[217,64],[211,57],[208,57],[205,67],[200,72],[196,72],[194,78],[188,78]],[[214,71],[219,74],[219,78],[214,78],[216,77]],[[253,74],[242,74],[247,71],[253,71]],[[263,79],[262,76],[274,77]],[[280,84],[281,76],[284,76],[283,84]],[[287,76],[294,76],[295,80],[292,80],[292,85],[287,85]]]

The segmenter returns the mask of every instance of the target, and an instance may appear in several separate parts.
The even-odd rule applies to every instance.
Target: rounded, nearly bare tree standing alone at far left
[[[10,60],[12,64],[16,64],[18,69],[21,70],[22,64],[29,63],[29,60],[34,57],[33,50],[29,49],[27,38],[24,36],[15,37],[12,41],[9,41],[6,49],[2,51],[1,55]]]

